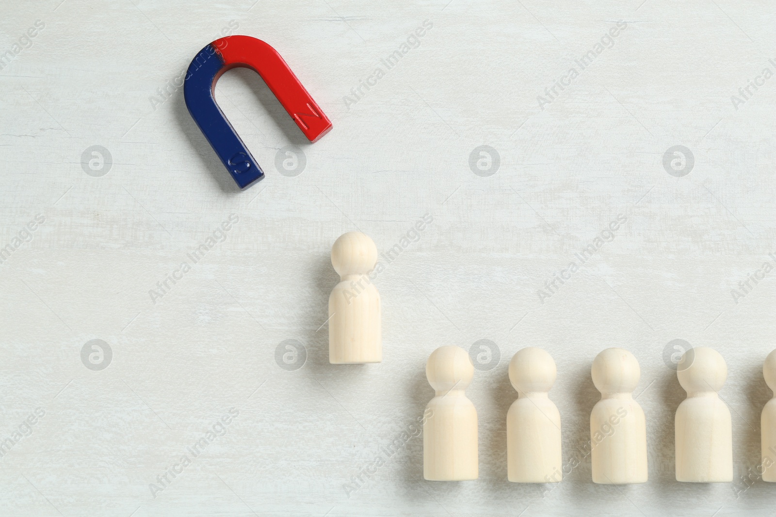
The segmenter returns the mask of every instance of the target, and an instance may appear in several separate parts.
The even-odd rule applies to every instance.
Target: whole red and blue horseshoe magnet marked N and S
[[[310,142],[328,133],[331,121],[286,61],[267,43],[251,36],[227,36],[208,43],[189,64],[183,96],[192,119],[213,146],[223,166],[227,167],[237,186],[245,189],[264,178],[264,172],[223,115],[213,95],[218,78],[234,67],[251,68],[262,76]]]

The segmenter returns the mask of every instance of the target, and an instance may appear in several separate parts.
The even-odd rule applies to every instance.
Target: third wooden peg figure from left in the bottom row
[[[632,396],[641,377],[639,361],[628,350],[608,348],[595,357],[591,374],[601,391],[590,415],[593,482],[645,483],[646,419]]]

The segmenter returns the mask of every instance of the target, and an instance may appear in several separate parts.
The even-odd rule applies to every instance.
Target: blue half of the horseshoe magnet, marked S
[[[264,178],[264,171],[216,104],[216,81],[229,68],[213,44],[209,43],[189,64],[183,96],[192,119],[210,142],[210,146],[213,146],[237,186],[244,190]]]

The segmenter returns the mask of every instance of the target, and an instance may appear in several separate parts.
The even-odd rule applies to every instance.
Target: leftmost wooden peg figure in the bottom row
[[[436,395],[423,424],[423,477],[429,481],[476,479],[477,412],[464,390],[474,365],[459,346],[440,346],[426,363],[426,378]]]

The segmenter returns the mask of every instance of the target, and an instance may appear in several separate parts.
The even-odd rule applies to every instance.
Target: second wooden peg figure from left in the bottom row
[[[547,396],[555,377],[555,361],[541,348],[518,350],[509,361],[509,381],[518,391],[507,412],[509,481],[557,483],[563,477],[560,413]]]

